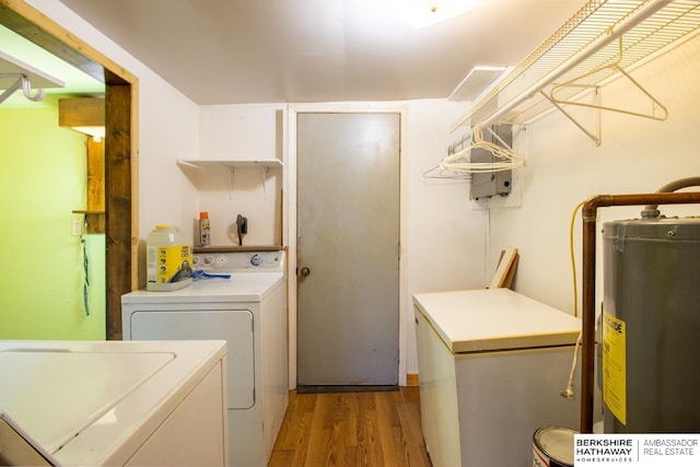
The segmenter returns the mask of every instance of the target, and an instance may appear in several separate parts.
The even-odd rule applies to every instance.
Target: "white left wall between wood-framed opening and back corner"
[[[139,79],[139,153],[131,156],[139,161],[139,257],[144,258],[145,237],[155,224],[183,229],[196,209],[192,186],[176,160],[197,156],[198,107],[58,0],[27,3]],[[144,268],[139,265],[141,287],[145,287]]]

